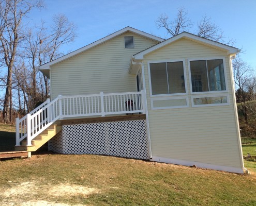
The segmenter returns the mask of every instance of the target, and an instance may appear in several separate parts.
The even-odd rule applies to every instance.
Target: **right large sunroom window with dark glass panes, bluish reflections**
[[[190,61],[192,92],[225,91],[222,59]]]

